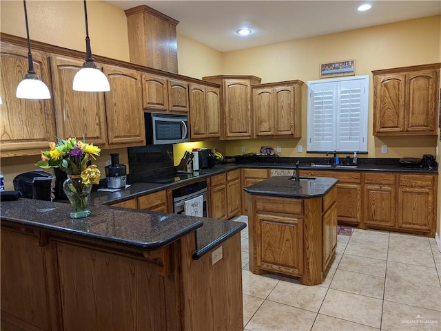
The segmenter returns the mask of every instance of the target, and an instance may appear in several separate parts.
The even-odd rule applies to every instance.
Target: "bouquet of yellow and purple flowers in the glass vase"
[[[101,176],[96,165],[88,165],[88,161],[99,156],[101,149],[84,140],[57,138],[58,142],[49,142],[49,151],[41,152],[41,161],[35,165],[43,168],[59,168],[68,175],[81,175],[83,184],[98,184]]]

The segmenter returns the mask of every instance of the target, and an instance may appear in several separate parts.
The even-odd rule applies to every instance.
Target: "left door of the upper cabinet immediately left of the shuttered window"
[[[254,134],[259,136],[274,135],[274,89],[253,88]]]

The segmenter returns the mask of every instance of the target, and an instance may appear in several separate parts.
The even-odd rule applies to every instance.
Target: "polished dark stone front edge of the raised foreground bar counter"
[[[1,217],[1,223],[6,222],[10,224],[22,224],[23,226],[30,226],[33,228],[39,228],[43,231],[50,231],[54,233],[54,235],[57,235],[57,233],[63,233],[66,235],[72,235],[72,237],[84,237],[86,239],[94,239],[99,242],[105,242],[110,244],[123,244],[125,246],[130,246],[131,248],[137,248],[137,249],[145,249],[145,250],[158,250],[160,248],[163,248],[172,242],[175,242],[176,240],[180,239],[184,235],[187,235],[188,233],[192,233],[196,231],[198,228],[201,228],[203,226],[202,221],[196,221],[193,224],[187,226],[186,228],[183,228],[181,231],[177,231],[173,235],[170,235],[168,237],[164,237],[161,241],[154,241],[154,242],[137,242],[132,240],[125,240],[121,238],[116,237],[109,237],[109,236],[102,236],[102,235],[96,235],[94,233],[88,233],[85,231],[79,231],[79,230],[72,230],[70,228],[63,228],[60,226],[50,226],[48,224],[41,224],[39,222],[33,222],[28,220],[19,220],[19,219],[12,219],[8,217]]]

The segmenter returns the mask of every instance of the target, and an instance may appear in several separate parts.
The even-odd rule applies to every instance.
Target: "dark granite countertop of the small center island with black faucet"
[[[338,180],[335,178],[317,177],[300,178],[299,182],[291,176],[270,177],[262,182],[245,187],[245,191],[256,195],[278,197],[322,197],[329,192]]]

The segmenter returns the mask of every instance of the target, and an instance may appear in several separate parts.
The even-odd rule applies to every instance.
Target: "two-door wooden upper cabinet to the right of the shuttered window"
[[[373,71],[376,136],[437,134],[440,63]]]

